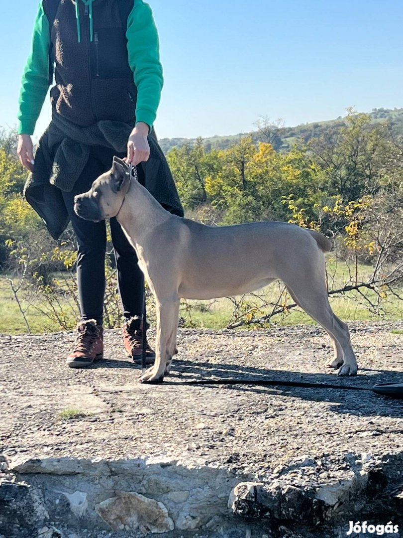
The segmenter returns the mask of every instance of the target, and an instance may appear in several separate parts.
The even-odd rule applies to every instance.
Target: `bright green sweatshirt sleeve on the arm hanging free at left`
[[[19,95],[18,133],[33,134],[49,87],[49,21],[39,3],[31,54],[28,57]]]

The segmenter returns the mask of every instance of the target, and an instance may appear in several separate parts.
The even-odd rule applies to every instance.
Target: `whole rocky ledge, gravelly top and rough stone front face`
[[[403,530],[402,401],[183,383],[403,383],[403,322],[352,323],[351,336],[359,374],[337,378],[316,326],[182,329],[162,385],[138,383],[119,331],[106,331],[105,359],[88,370],[64,364],[74,332],[1,336],[0,538],[319,538],[364,519]],[[146,505],[159,530],[139,519]]]

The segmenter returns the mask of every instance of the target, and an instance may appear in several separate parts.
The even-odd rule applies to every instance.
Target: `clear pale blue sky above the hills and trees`
[[[149,0],[159,30],[161,137],[236,134],[403,106],[402,0]],[[16,124],[37,0],[0,0],[0,125]],[[48,98],[38,138],[50,119]]]

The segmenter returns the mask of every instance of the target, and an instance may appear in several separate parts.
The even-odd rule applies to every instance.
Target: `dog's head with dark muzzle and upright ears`
[[[116,216],[129,190],[130,171],[125,161],[113,157],[112,168],[97,178],[87,193],[74,198],[74,211],[87,221]]]

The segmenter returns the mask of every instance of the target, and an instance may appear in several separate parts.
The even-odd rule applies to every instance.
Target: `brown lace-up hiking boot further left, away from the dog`
[[[95,320],[78,323],[78,337],[73,352],[67,357],[70,368],[87,368],[94,360],[104,356],[104,339],[102,325]]]

